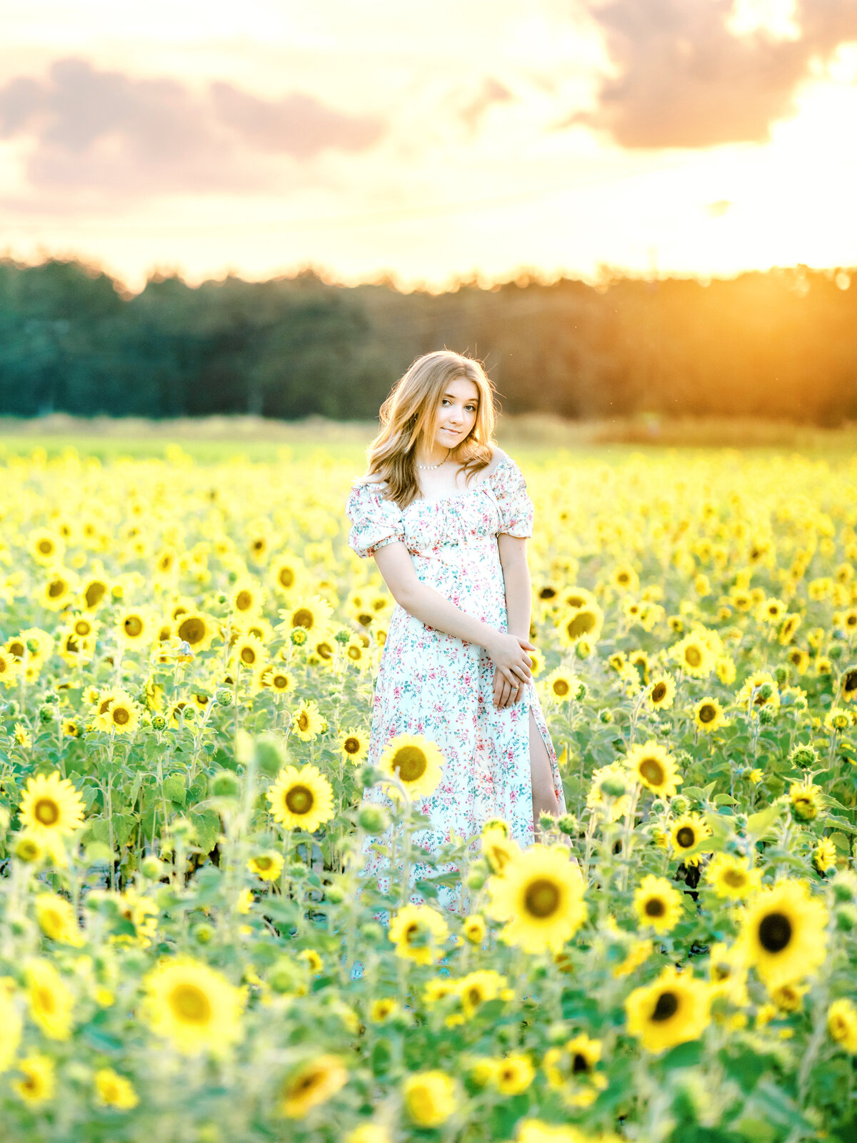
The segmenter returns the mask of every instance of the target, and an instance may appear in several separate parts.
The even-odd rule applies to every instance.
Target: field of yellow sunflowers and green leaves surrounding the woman
[[[362,455],[5,456],[5,1143],[854,1143],[857,457],[519,459],[568,813],[416,903]]]

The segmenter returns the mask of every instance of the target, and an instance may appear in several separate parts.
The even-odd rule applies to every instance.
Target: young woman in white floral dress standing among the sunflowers
[[[527,566],[532,502],[521,470],[492,441],[492,393],[471,358],[447,350],[418,358],[381,407],[369,471],[352,485],[345,509],[349,546],[375,557],[397,601],[367,761],[377,766],[398,735],[419,735],[442,754],[440,783],[415,801],[431,820],[414,834],[415,852],[478,838],[495,817],[526,848],[539,839],[543,812],[566,812],[527,654],[535,649]],[[392,806],[383,786],[365,799]],[[370,874],[384,868],[374,840],[365,845]],[[428,866],[417,862],[411,885],[426,876]],[[449,889],[440,903],[465,908]]]

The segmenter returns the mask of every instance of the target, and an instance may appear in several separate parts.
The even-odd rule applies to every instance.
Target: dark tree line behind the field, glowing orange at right
[[[73,259],[0,259],[0,413],[371,419],[414,358],[480,358],[505,413],[857,419],[857,280],[807,266],[442,294],[306,269],[129,295]]]

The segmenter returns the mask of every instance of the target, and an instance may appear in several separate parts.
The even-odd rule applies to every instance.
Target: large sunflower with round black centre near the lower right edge
[[[811,975],[827,953],[827,909],[802,881],[784,879],[748,903],[738,941],[769,989]]]

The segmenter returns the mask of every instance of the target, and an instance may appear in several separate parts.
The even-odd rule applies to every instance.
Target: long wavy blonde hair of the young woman
[[[385,499],[405,509],[419,495],[416,472],[416,450],[421,441],[434,440],[438,409],[450,381],[466,378],[479,390],[476,419],[454,453],[460,461],[465,482],[491,461],[491,445],[497,415],[494,407],[495,389],[480,361],[435,350],[414,361],[399,378],[390,397],[381,407],[381,432],[367,449],[369,471],[354,483],[361,483],[376,473],[386,481]]]

